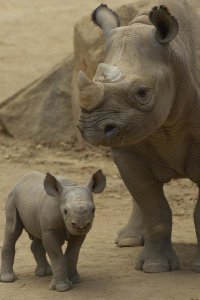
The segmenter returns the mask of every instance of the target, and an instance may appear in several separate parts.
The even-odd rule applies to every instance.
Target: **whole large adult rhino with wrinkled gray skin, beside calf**
[[[117,15],[105,5],[92,19],[105,34],[105,61],[93,81],[79,74],[79,129],[89,143],[112,148],[135,199],[116,243],[144,243],[136,269],[178,269],[163,185],[189,178],[200,186],[200,17],[187,1],[163,0],[152,1],[128,26],[118,27]],[[193,270],[200,272],[199,200],[194,222]]]

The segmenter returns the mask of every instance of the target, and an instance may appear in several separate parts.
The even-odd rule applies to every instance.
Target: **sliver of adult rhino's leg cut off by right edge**
[[[198,247],[197,247],[196,257],[192,264],[192,270],[198,273],[200,273],[200,217],[199,216],[200,216],[200,193],[194,211],[194,224],[195,224]]]

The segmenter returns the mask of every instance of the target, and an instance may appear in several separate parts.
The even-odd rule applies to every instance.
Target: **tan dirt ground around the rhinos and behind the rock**
[[[37,78],[72,51],[73,24],[101,1],[90,0],[0,0],[0,100]],[[128,1],[107,1],[126,3]],[[114,6],[115,6],[114,5]],[[134,270],[141,250],[117,248],[116,232],[130,213],[126,191],[110,154],[99,149],[48,149],[0,135],[0,248],[4,234],[4,206],[7,194],[23,174],[38,170],[70,176],[85,182],[102,168],[107,175],[106,191],[95,197],[94,226],[81,250],[78,269],[82,283],[64,293],[49,291],[50,278],[34,276],[35,262],[30,240],[23,233],[16,246],[14,283],[0,283],[0,300],[33,299],[200,299],[200,274],[190,271],[196,251],[192,213],[196,187],[187,180],[166,185],[173,209],[173,243],[181,258],[181,270],[145,274]]]

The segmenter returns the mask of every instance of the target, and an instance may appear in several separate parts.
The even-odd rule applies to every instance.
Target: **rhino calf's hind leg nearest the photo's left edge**
[[[12,282],[17,279],[13,271],[15,243],[23,230],[23,224],[14,205],[14,196],[9,195],[6,206],[6,225],[4,242],[1,251],[1,282]]]

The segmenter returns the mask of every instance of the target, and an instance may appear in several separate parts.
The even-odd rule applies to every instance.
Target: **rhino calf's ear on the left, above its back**
[[[51,197],[58,197],[62,191],[61,183],[50,173],[44,179],[44,189]]]

